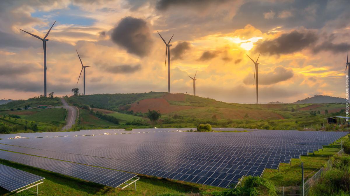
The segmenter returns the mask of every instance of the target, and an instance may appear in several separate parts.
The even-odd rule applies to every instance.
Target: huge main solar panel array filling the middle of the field
[[[264,168],[277,169],[279,163],[289,163],[291,158],[299,158],[300,155],[322,149],[322,145],[328,145],[346,134],[277,130],[243,133],[152,132],[1,140],[1,143],[26,148],[6,145],[0,147],[87,165],[227,188],[230,184],[236,184],[242,176],[260,176]]]

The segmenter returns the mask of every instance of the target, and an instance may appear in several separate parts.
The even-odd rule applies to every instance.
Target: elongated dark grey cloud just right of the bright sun
[[[257,42],[255,51],[262,54],[289,54],[298,52],[314,44],[318,39],[315,32],[309,30],[284,33],[276,39]]]

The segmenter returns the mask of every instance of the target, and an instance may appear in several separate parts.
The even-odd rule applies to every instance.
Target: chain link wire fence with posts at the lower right
[[[344,149],[337,152],[337,154],[342,154],[344,152]],[[280,196],[307,196],[310,193],[311,187],[317,182],[317,180],[321,177],[323,172],[328,171],[332,168],[332,162],[330,160],[327,161],[325,164],[325,167],[322,167],[320,170],[318,170],[311,178],[309,178],[304,183],[304,194],[303,194],[303,187],[276,187],[277,195]]]

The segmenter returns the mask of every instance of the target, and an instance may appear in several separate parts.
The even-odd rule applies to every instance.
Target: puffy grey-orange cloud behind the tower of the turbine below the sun
[[[267,73],[259,73],[259,84],[270,85],[292,78],[294,75],[292,69],[286,69],[282,66],[276,67],[273,71]],[[254,75],[249,74],[244,78],[243,83],[246,85],[253,84]],[[256,81],[255,81],[256,82]]]

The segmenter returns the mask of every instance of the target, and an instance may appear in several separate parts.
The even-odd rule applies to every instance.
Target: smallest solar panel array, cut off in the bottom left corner
[[[45,178],[0,164],[0,186],[11,192],[43,179]]]

